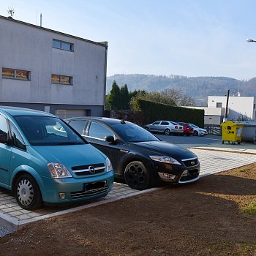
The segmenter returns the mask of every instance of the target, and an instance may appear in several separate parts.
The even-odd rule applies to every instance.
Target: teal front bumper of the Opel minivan
[[[40,179],[38,184],[41,185],[42,200],[45,203],[72,203],[108,195],[113,187],[114,173],[110,171],[89,178],[37,176],[37,179]]]

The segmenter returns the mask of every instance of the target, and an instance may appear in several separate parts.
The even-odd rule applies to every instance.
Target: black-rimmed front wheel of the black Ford
[[[151,177],[143,162],[130,162],[124,169],[124,179],[132,189],[148,189],[151,185]]]

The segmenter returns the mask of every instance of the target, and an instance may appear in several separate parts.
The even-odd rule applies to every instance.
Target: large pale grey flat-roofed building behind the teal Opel
[[[0,16],[0,105],[102,116],[107,42]]]

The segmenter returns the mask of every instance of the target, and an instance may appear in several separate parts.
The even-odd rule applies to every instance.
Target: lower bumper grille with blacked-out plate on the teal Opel
[[[107,192],[109,186],[105,186],[106,181],[99,181],[84,184],[83,191],[75,191],[70,193],[71,198],[89,197],[91,195],[97,195],[102,192]]]

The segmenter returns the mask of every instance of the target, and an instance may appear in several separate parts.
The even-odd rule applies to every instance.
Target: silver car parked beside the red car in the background
[[[144,126],[149,132],[162,132],[165,135],[184,135],[183,126],[174,121],[154,121]]]

